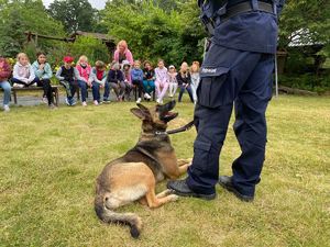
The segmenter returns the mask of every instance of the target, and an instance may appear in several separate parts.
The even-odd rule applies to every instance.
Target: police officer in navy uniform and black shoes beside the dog
[[[212,200],[220,183],[239,199],[252,201],[265,159],[265,112],[272,98],[277,16],[284,0],[199,3],[212,36],[197,90],[194,159],[188,177],[169,181],[167,188],[178,195]],[[219,155],[232,109],[241,155],[232,164],[232,176],[219,178]]]

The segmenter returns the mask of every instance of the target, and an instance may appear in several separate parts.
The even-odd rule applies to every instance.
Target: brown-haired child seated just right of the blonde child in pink
[[[95,63],[95,67],[91,69],[90,76],[89,76],[89,83],[92,85],[92,99],[94,104],[98,105],[101,103],[100,101],[100,88],[105,88],[105,94],[103,94],[103,101],[110,102],[109,94],[110,94],[110,87],[107,82],[107,71],[106,71],[106,65],[101,60],[97,60]]]

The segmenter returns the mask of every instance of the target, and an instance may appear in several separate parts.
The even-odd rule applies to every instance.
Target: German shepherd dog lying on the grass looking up
[[[139,201],[151,209],[176,201],[177,195],[165,190],[155,194],[155,186],[165,178],[176,179],[187,171],[191,159],[177,160],[168,135],[167,123],[178,113],[170,112],[175,101],[154,108],[131,109],[142,120],[138,144],[124,156],[110,161],[97,178],[95,211],[106,223],[122,223],[131,227],[138,238],[141,218],[133,213],[118,213],[116,209]]]

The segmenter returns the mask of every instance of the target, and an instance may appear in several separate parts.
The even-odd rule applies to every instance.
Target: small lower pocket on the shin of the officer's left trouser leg
[[[194,143],[194,166],[198,170],[207,170],[209,164],[210,143],[195,141]]]

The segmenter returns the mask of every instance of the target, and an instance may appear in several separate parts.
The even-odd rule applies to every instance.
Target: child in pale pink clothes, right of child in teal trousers
[[[155,69],[156,80],[156,93],[157,93],[157,103],[163,103],[163,99],[168,89],[168,76],[167,68],[164,65],[164,60],[158,60],[158,67]]]

